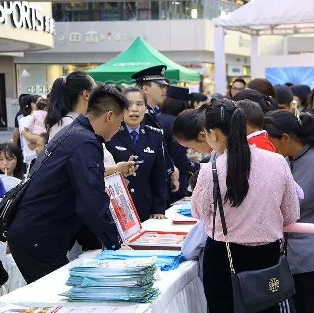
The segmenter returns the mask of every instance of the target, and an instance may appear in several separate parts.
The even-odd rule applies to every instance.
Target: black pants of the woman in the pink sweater
[[[263,269],[277,264],[279,242],[262,246],[230,243],[236,272]],[[203,283],[209,313],[233,313],[233,295],[226,244],[207,238],[203,257]],[[280,313],[279,305],[262,311]]]

